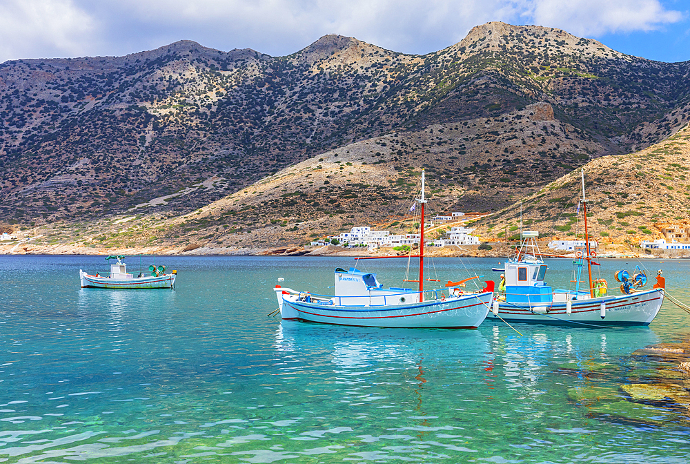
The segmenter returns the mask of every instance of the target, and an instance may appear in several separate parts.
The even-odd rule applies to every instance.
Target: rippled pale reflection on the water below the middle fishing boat
[[[406,405],[420,417],[432,414],[424,411],[431,396],[449,387],[453,395],[475,388],[477,377],[486,376],[484,368],[493,362],[489,343],[479,331],[373,329],[283,320],[275,331],[274,347],[281,363],[279,375],[289,374],[291,382],[313,392],[330,392],[349,405],[380,404],[381,414],[393,414],[386,412],[391,405],[400,414],[400,407]]]

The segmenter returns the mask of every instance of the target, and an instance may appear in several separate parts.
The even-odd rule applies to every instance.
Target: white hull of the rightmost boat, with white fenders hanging
[[[499,301],[498,316],[508,322],[601,327],[609,325],[649,325],[664,302],[664,289],[640,291],[632,295],[604,296],[571,302],[510,303]],[[602,303],[604,310],[602,311]],[[500,320],[489,312],[489,320]],[[604,317],[602,317],[604,316]]]

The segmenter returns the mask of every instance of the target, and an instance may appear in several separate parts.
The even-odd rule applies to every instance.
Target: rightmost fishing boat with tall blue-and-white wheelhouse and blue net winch
[[[611,295],[607,280],[592,277],[595,251],[591,250],[587,229],[587,209],[582,171],[582,210],[584,249],[575,253],[575,290],[552,289],[547,285],[546,264],[539,251],[537,231],[524,231],[514,258],[506,261],[504,279],[495,293],[488,318],[508,322],[601,327],[607,325],[649,325],[664,302],[665,279],[658,271],[652,289],[643,290],[647,274],[639,267],[633,273],[618,271],[620,295]],[[548,256],[548,255],[546,255]],[[580,289],[583,268],[589,286]]]

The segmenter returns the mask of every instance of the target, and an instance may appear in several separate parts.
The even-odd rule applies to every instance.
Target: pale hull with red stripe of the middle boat
[[[493,293],[431,300],[412,305],[336,306],[300,301],[294,294],[279,296],[286,320],[359,327],[476,329],[489,313]]]

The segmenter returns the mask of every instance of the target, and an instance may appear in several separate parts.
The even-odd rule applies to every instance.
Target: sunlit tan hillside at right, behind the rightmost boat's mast
[[[690,126],[635,153],[596,158],[584,168],[591,237],[602,244],[632,244],[663,238],[655,224],[690,225]],[[578,202],[581,171],[526,195],[495,218],[476,223],[485,237],[517,240],[524,227],[562,240],[580,238],[584,229]]]

